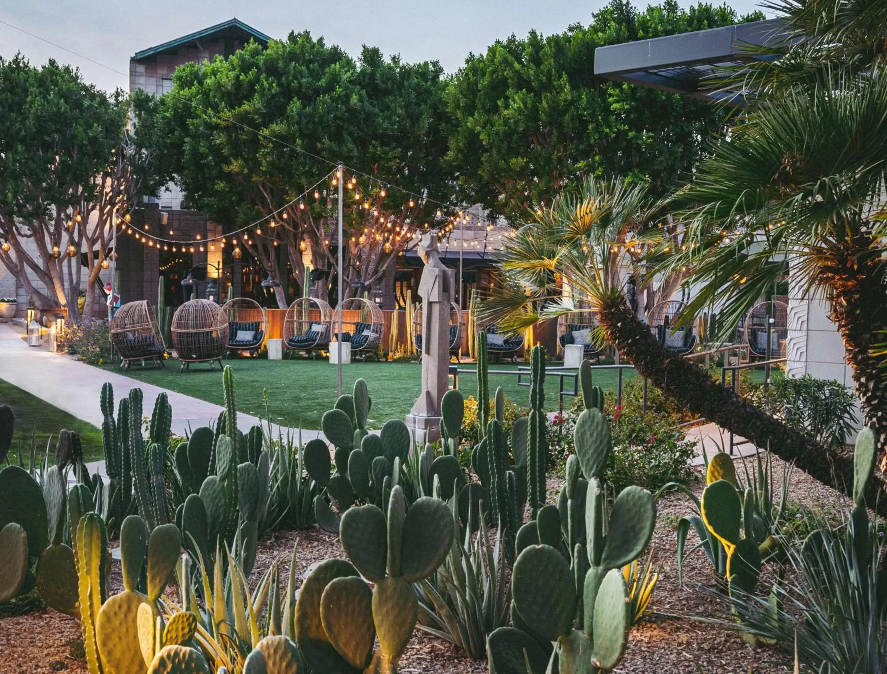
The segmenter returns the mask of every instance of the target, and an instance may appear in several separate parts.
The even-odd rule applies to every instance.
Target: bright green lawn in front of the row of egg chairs
[[[252,415],[263,415],[263,389],[268,391],[268,407],[272,419],[292,427],[316,429],[320,417],[333,407],[336,399],[336,368],[329,361],[266,361],[263,359],[231,359],[225,361],[234,370],[237,408]],[[460,369],[474,369],[474,365],[464,364]],[[122,372],[116,366],[104,369]],[[193,365],[192,369],[178,373],[178,361],[167,361],[165,369],[147,367],[141,369],[133,365],[128,373],[138,381],[162,386],[178,393],[223,404],[222,377],[219,369],[210,371],[207,365]],[[516,365],[493,364],[491,369],[517,369]],[[633,374],[633,370],[632,370]],[[627,376],[627,375],[626,375]],[[357,377],[363,377],[373,398],[370,416],[373,428],[378,428],[391,418],[403,419],[412,408],[419,395],[421,368],[411,362],[367,362],[352,363],[342,369],[342,391],[350,392]],[[595,373],[594,383],[616,388],[616,370]],[[529,381],[526,377],[524,381]],[[568,380],[569,381],[569,380]],[[459,388],[466,396],[476,394],[475,374],[460,377]],[[569,387],[571,384],[565,385]],[[530,388],[518,386],[514,375],[490,375],[490,394],[497,386],[505,389],[506,397],[514,403],[526,407],[529,404]],[[558,404],[558,377],[546,379],[546,406],[556,409]],[[564,405],[569,405],[567,398]]]

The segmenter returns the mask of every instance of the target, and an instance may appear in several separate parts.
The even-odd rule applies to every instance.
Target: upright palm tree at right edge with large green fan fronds
[[[828,302],[885,448],[887,379],[872,348],[887,329],[887,72],[819,75],[771,89],[714,147],[678,195],[687,248],[661,246],[657,268],[691,266],[703,283],[691,310],[720,301],[735,325],[789,260],[792,281]]]

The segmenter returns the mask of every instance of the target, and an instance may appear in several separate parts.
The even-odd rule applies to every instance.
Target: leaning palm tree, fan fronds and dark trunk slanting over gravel
[[[562,297],[563,288],[569,288],[573,297],[587,298],[598,313],[597,337],[616,346],[663,393],[848,494],[850,457],[789,429],[718,385],[694,362],[665,349],[626,302],[626,277],[643,273],[640,266],[651,242],[659,250],[680,250],[688,246],[691,233],[651,207],[644,186],[589,178],[576,195],[558,196],[537,216],[506,242],[503,282],[497,283],[497,294],[483,302],[482,318],[517,331],[539,320],[569,315],[578,311],[571,298]],[[672,271],[687,272],[682,266]],[[876,492],[875,487],[869,492],[869,503],[875,504]],[[887,512],[887,503],[882,508]]]

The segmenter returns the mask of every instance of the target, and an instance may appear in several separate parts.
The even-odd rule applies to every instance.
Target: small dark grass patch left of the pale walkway
[[[83,445],[83,460],[96,461],[104,458],[102,453],[102,433],[94,425],[81,421],[75,416],[22,391],[18,386],[0,379],[0,405],[9,405],[15,413],[16,438],[12,442],[10,454],[15,455],[21,442],[22,451],[27,456],[31,448],[31,432],[35,432],[37,452],[46,451],[46,443],[51,439],[50,460],[55,456],[55,440],[58,432],[67,428],[80,433]]]

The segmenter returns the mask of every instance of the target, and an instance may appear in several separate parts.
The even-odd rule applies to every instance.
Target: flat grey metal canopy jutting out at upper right
[[[598,47],[594,74],[698,99],[739,103],[742,91],[705,91],[706,82],[726,67],[766,58],[750,54],[749,48],[781,42],[783,26],[781,19],[768,19]]]

